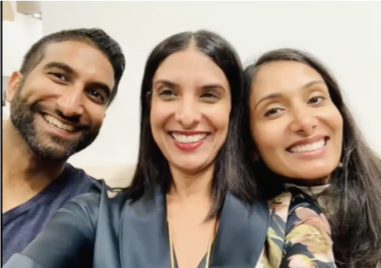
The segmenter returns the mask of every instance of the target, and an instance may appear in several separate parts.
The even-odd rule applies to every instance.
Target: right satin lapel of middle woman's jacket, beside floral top
[[[255,267],[265,244],[269,221],[266,201],[248,207],[234,195],[228,194],[220,216],[210,267]]]

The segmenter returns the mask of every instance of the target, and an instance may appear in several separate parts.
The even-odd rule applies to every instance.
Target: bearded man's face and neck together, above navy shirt
[[[11,114],[3,122],[3,213],[41,192],[72,154],[95,140],[115,85],[109,60],[84,42],[48,44],[32,67],[24,75],[14,72],[7,89]],[[48,123],[46,115],[73,131]]]

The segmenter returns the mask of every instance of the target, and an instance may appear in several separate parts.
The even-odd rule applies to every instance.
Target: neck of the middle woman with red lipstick
[[[213,166],[198,174],[187,174],[171,167],[173,183],[169,195],[183,201],[200,197],[210,200],[213,172]]]

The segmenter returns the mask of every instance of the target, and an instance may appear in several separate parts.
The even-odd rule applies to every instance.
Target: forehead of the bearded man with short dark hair
[[[97,48],[79,41],[48,44],[36,69],[59,62],[70,66],[85,80],[100,80],[110,88],[114,85],[114,70],[108,58]]]

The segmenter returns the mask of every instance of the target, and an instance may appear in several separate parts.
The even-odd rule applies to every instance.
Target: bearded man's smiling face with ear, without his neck
[[[26,77],[16,72],[10,79],[11,121],[35,154],[67,159],[97,137],[113,87],[113,68],[98,49],[74,41],[49,44]],[[59,130],[44,115],[74,131]]]

